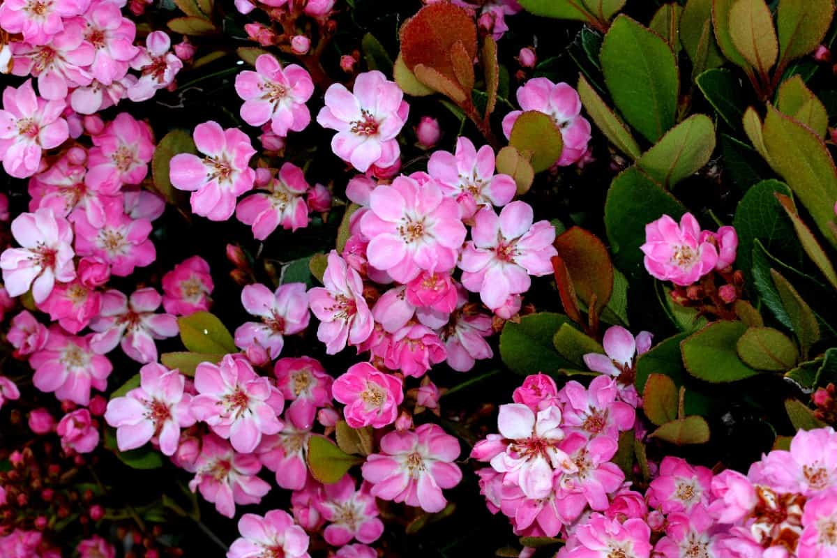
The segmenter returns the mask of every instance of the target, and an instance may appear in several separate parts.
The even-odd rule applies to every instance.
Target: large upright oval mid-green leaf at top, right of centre
[[[604,80],[616,108],[648,141],[675,124],[680,82],[675,55],[659,35],[620,15],[604,36]]]

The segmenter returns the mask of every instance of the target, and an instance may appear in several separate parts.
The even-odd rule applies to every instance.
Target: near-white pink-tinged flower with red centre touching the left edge
[[[12,236],[21,248],[6,248],[0,254],[3,286],[9,296],[32,289],[33,299],[44,302],[55,281],[72,281],[73,228],[51,209],[21,213],[12,222]]]

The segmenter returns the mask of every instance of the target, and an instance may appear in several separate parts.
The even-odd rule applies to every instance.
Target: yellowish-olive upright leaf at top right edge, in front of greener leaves
[[[773,16],[764,0],[736,0],[730,8],[732,44],[747,63],[767,76],[779,54]]]

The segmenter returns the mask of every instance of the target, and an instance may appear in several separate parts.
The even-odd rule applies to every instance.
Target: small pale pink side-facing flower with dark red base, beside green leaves
[[[636,337],[621,325],[612,325],[604,332],[602,346],[605,355],[588,353],[583,356],[584,364],[600,374],[616,378],[619,384],[619,397],[622,401],[636,407],[639,396],[634,387],[636,379],[636,358],[651,348],[651,335],[640,331]]]

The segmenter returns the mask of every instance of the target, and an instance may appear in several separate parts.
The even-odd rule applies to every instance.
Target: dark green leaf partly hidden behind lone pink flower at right
[[[644,274],[645,225],[663,215],[675,220],[686,212],[674,196],[635,166],[614,178],[604,203],[604,224],[614,263],[629,279]]]

